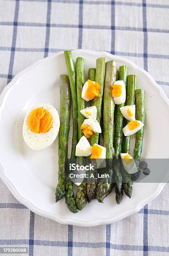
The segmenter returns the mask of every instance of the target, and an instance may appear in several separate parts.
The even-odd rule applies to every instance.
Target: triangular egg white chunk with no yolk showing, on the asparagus
[[[82,136],[77,143],[75,154],[76,156],[90,156],[92,154],[90,143],[85,136]]]

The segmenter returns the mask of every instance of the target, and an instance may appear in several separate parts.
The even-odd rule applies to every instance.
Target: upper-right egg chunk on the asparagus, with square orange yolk
[[[126,87],[123,80],[118,80],[112,85],[114,104],[122,104],[126,100]]]

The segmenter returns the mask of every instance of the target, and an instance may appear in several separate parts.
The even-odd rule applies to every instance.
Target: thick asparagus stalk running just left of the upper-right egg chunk
[[[112,159],[114,156],[113,147],[113,125],[114,125],[114,100],[112,97],[111,85],[116,80],[116,62],[106,62],[106,74],[104,82],[104,106],[103,106],[103,145],[106,147],[106,158]],[[112,175],[112,166],[109,164],[105,173]],[[103,202],[112,188],[112,182],[109,183],[107,179],[103,179],[97,184],[97,200]]]

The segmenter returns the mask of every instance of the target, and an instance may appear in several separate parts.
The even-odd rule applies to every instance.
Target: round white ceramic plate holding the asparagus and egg
[[[89,67],[98,57],[114,59],[117,67],[129,66],[129,74],[137,75],[137,88],[146,90],[146,125],[142,156],[169,158],[169,100],[161,87],[132,61],[107,52],[77,50],[73,56],[85,59],[86,78]],[[159,195],[164,184],[134,184],[132,198],[124,195],[120,205],[114,192],[100,204],[93,200],[82,211],[73,214],[65,199],[55,203],[57,185],[58,141],[43,151],[32,151],[22,136],[25,113],[35,102],[49,102],[59,111],[60,74],[67,74],[64,53],[59,52],[37,61],[17,74],[0,95],[0,175],[12,194],[33,212],[60,223],[94,226],[111,223],[139,211]]]

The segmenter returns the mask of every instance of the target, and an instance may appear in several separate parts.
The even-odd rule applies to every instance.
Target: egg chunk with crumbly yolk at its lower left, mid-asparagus
[[[86,138],[90,138],[93,133],[102,133],[99,122],[96,119],[85,119],[80,127]]]

